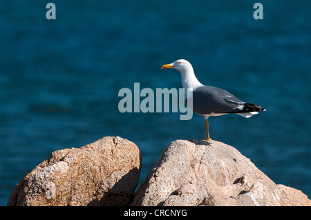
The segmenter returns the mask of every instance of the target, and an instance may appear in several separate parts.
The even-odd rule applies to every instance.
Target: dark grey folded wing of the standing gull
[[[230,92],[212,86],[197,88],[192,97],[192,109],[198,114],[234,113],[242,109],[245,103]]]

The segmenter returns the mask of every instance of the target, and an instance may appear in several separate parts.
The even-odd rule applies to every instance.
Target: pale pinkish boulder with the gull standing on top
[[[300,190],[276,185],[232,146],[173,141],[131,206],[311,206]]]

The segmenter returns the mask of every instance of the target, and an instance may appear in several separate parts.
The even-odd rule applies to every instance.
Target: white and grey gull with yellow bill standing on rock
[[[214,86],[205,86],[194,74],[194,68],[191,63],[185,59],[178,59],[170,64],[165,64],[161,69],[173,68],[178,70],[182,75],[182,87],[185,89],[185,101],[187,105],[196,113],[205,117],[205,127],[207,138],[205,141],[211,141],[209,137],[209,123],[207,119],[210,116],[220,116],[223,114],[238,114],[242,117],[249,118],[258,112],[265,111],[265,108],[251,103],[241,101],[230,92]],[[187,91],[191,95],[187,96]],[[191,99],[191,100],[190,100]],[[191,103],[192,105],[189,103]]]

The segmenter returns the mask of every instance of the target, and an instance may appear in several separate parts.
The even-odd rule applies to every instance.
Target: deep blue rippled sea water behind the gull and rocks
[[[204,118],[120,113],[121,88],[181,88],[165,63],[266,112],[209,119],[275,183],[311,197],[311,1],[0,1],[0,206],[50,152],[120,136],[142,151],[140,183],[176,139],[205,138]]]

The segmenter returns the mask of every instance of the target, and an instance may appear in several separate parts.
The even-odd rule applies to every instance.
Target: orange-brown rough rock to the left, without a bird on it
[[[120,137],[57,150],[17,183],[8,206],[124,206],[140,167],[138,146]]]

